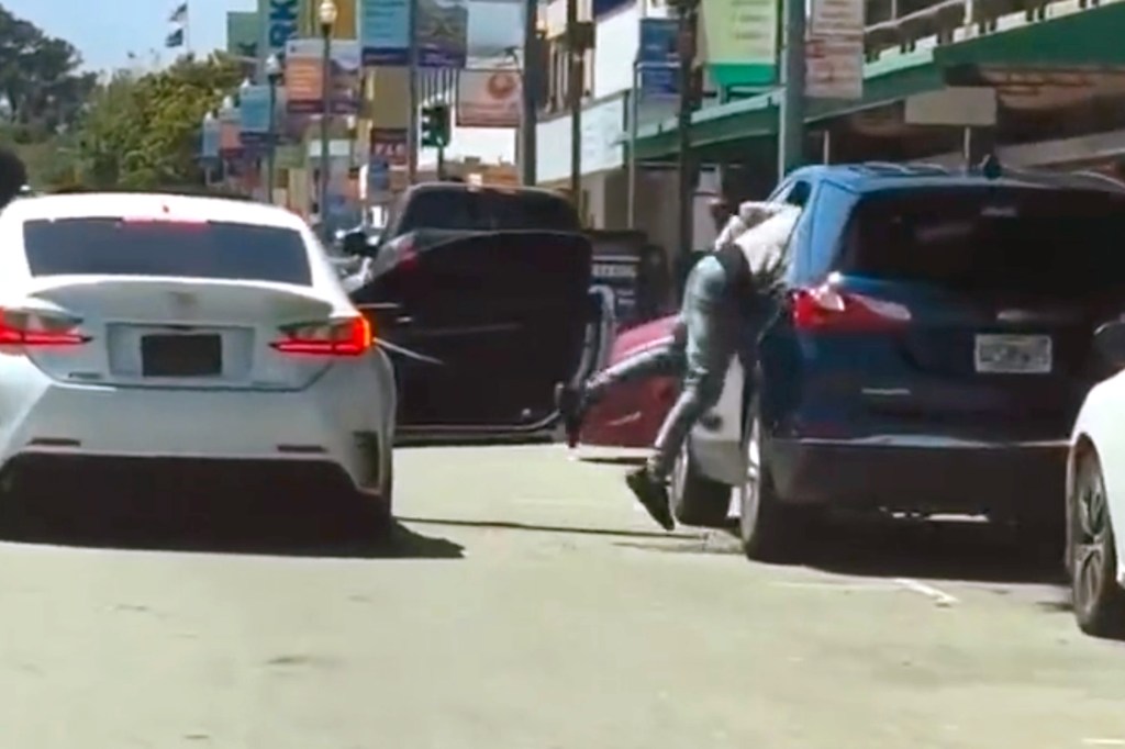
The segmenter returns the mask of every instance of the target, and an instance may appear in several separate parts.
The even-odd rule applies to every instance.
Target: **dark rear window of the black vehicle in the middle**
[[[400,232],[557,229],[577,232],[578,214],[566,199],[541,192],[423,190],[411,196]]]

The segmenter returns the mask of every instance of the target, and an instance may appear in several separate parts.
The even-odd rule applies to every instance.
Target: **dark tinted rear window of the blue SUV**
[[[840,268],[958,289],[1072,296],[1125,287],[1125,198],[1087,190],[911,189],[856,206]]]

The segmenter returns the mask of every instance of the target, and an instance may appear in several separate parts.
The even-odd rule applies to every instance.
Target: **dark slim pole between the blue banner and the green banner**
[[[803,2],[803,0],[798,0]],[[692,196],[695,192],[695,159],[692,154],[692,112],[699,101],[695,85],[695,29],[699,22],[700,0],[677,0],[676,17],[678,20],[680,52],[680,110],[676,123],[677,148],[677,186],[676,209],[678,220],[677,249],[680,256],[686,256],[692,251],[694,227],[692,226]]]

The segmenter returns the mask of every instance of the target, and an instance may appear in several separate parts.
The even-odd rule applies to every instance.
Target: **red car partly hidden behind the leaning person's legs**
[[[620,333],[613,342],[609,366],[645,351],[672,335],[675,315],[660,317]],[[614,386],[590,409],[583,423],[584,445],[648,448],[676,399],[677,382],[657,377]]]

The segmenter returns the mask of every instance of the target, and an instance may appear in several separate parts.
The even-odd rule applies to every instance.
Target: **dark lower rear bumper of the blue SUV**
[[[794,504],[1059,518],[1068,449],[1065,440],[774,440],[770,466]]]

